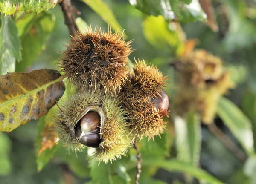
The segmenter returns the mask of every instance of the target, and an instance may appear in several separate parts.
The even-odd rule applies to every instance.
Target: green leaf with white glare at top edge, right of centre
[[[198,3],[198,0],[129,1],[133,6],[135,6],[136,9],[139,9],[143,13],[154,16],[163,15],[166,20],[177,19],[180,22],[190,22],[196,20],[204,20],[206,18],[204,11],[201,9],[200,4]]]

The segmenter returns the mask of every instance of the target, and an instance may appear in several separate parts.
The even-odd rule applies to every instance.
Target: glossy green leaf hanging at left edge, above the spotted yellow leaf
[[[21,57],[20,39],[12,17],[1,15],[0,33],[0,75],[15,71],[15,60]]]

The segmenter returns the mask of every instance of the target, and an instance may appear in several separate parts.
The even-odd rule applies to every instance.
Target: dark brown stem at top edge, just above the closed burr
[[[73,6],[70,0],[63,0],[59,3],[64,14],[65,24],[68,27],[71,36],[76,36],[76,31],[78,31],[78,26],[76,25],[76,19],[73,14]]]

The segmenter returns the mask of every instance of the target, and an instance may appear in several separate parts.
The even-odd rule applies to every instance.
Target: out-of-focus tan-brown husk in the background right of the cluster
[[[197,110],[204,123],[212,123],[219,98],[234,87],[220,58],[196,50],[180,58],[175,69],[178,84],[174,111],[183,116],[189,109]]]

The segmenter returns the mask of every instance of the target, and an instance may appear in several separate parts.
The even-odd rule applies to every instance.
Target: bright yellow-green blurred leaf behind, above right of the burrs
[[[182,30],[177,27],[174,30],[169,29],[163,16],[149,16],[143,20],[143,34],[148,42],[159,50],[170,48],[176,53],[178,48],[183,47],[183,40],[180,39]]]

